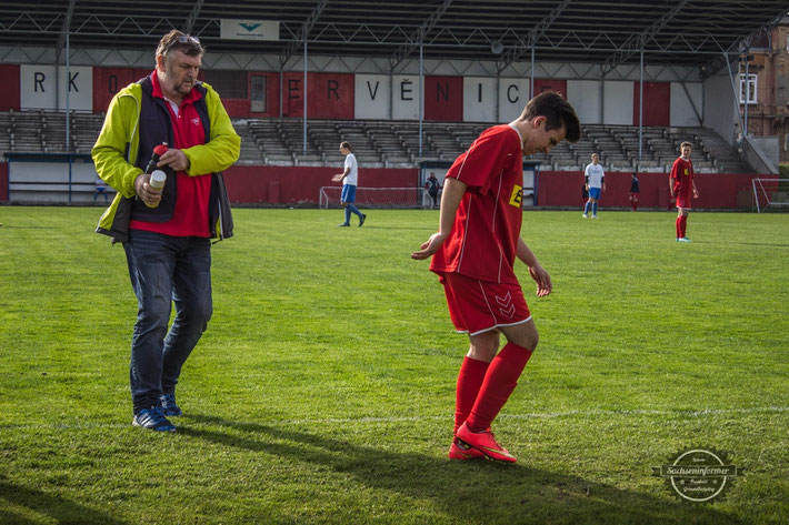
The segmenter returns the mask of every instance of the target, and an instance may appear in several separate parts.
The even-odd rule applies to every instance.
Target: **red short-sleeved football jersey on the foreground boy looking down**
[[[508,124],[489,128],[456,159],[447,176],[468,188],[452,231],[433,254],[430,270],[518,283],[512,264],[523,215],[520,133]]]

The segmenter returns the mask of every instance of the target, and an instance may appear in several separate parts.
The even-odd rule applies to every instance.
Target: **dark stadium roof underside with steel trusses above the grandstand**
[[[789,11],[776,0],[11,0],[0,47],[153,49],[172,28],[210,52],[700,65]],[[222,19],[279,22],[278,41],[220,39]],[[0,55],[0,62],[2,57]]]

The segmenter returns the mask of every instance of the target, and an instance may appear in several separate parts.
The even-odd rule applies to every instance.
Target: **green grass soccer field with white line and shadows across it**
[[[468,347],[426,261],[438,211],[234,211],[174,435],[131,426],[137,312],[101,209],[0,208],[0,523],[789,522],[789,215],[525,213],[540,345],[493,423],[515,465],[450,462]],[[354,223],[356,224],[356,223]],[[683,501],[691,447],[745,475]]]

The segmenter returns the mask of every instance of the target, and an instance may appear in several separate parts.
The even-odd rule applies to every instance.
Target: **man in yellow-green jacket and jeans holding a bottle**
[[[168,417],[182,414],[181,366],[211,317],[210,240],[232,235],[220,172],[238,160],[241,139],[219,94],[197,79],[202,54],[194,37],[162,37],[156,70],[116,94],[92,150],[99,176],[118,192],[97,232],[123,243],[138,300],[132,424],[159,432],[176,430]],[[150,184],[154,170],[167,175],[162,189]]]

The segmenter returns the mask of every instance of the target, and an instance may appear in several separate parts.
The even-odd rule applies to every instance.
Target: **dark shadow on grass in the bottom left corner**
[[[29,508],[30,511],[43,514],[49,521],[59,524],[83,524],[100,523],[102,525],[123,525],[126,522],[113,518],[107,513],[94,511],[73,501],[36,488],[14,485],[8,479],[0,479],[0,505],[9,502],[17,507]],[[26,516],[14,513],[10,508],[0,508],[0,523],[10,524],[33,524],[41,523],[32,521]]]

